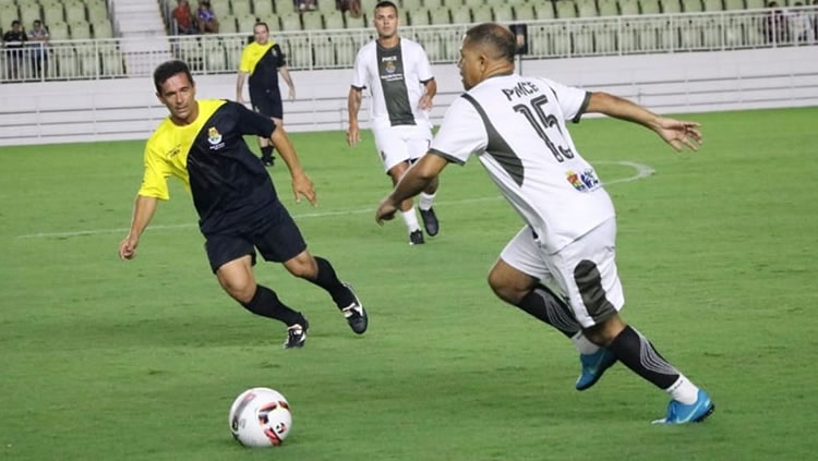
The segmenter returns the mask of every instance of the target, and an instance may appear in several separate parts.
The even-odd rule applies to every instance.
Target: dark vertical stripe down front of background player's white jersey
[[[386,111],[389,113],[389,122],[395,125],[413,125],[414,114],[409,104],[409,92],[406,89],[406,75],[404,73],[404,54],[400,44],[393,48],[383,48],[381,44],[375,46],[375,58],[377,59],[377,77],[384,90]]]

